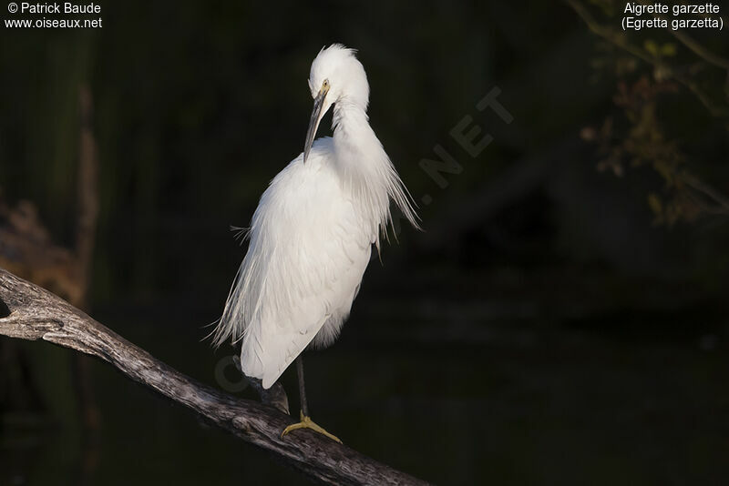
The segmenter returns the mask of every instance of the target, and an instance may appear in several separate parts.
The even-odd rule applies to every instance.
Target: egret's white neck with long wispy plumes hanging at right
[[[386,236],[386,227],[392,223],[390,199],[418,228],[412,197],[370,127],[365,108],[339,101],[334,105],[333,125],[336,169],[344,186],[352,191],[353,201],[360,202],[361,214],[372,225],[377,247],[378,228]]]

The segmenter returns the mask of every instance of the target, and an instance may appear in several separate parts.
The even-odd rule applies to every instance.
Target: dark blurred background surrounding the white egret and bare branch
[[[314,420],[439,484],[725,483],[724,31],[624,33],[610,1],[101,7],[96,30],[0,28],[4,267],[74,289],[86,130],[84,307],[222,385],[232,350],[201,339],[245,251],[228,228],[301,152],[310,63],[342,42],[425,231],[398,230],[307,353]],[[476,109],[495,86],[510,124]],[[464,116],[494,138],[477,157],[449,135]],[[436,145],[458,173],[421,167]],[[2,484],[304,482],[103,363],[0,346]]]

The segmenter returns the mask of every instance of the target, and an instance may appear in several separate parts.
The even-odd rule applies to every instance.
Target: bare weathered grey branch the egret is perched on
[[[152,357],[45,289],[0,268],[0,335],[43,339],[107,361],[129,379],[271,452],[322,484],[425,485],[311,430],[281,438],[292,418],[203,385]]]

